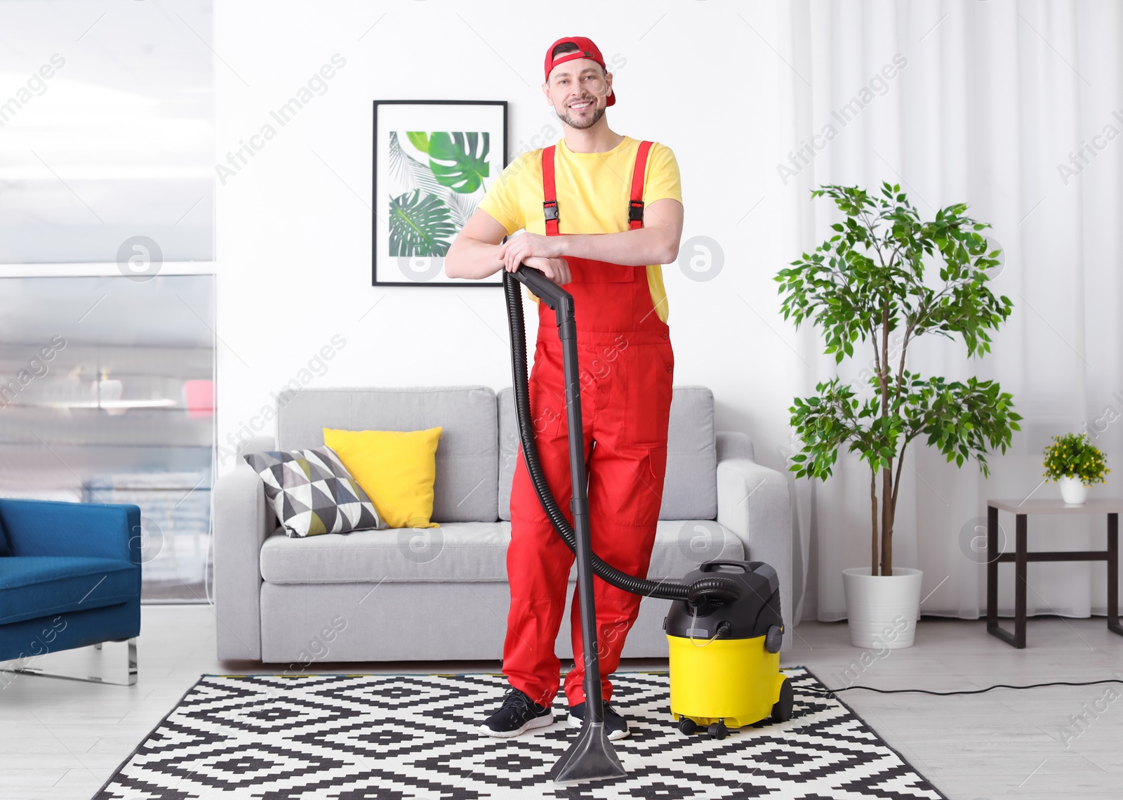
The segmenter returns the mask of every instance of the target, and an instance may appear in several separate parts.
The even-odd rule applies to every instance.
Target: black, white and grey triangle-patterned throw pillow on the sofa
[[[389,527],[330,447],[243,456],[290,538]]]

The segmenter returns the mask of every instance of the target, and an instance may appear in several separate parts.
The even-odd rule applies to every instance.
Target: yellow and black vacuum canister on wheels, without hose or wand
[[[686,575],[741,583],[737,600],[674,601],[665,627],[670,651],[670,713],[683,733],[706,727],[714,738],[772,718],[792,717],[792,684],[779,671],[784,621],[776,571],[759,561],[711,561]]]

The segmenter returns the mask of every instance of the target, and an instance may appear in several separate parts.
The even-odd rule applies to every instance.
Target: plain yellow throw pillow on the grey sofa
[[[323,444],[339,455],[391,528],[439,528],[429,518],[440,431],[325,428]]]

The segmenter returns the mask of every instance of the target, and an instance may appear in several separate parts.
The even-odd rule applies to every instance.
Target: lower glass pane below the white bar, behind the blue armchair
[[[140,507],[141,599],[206,601],[214,275],[0,279],[0,496]]]

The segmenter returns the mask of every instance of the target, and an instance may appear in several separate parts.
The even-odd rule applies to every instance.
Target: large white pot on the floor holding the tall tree
[[[868,566],[842,570],[847,624],[855,647],[912,647],[920,617],[921,570],[893,567],[870,575]]]

